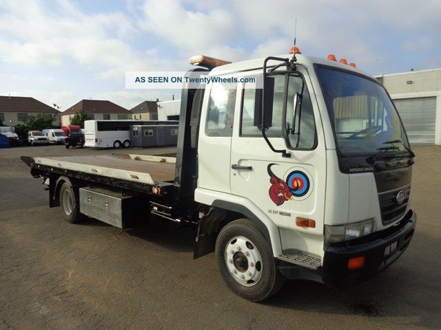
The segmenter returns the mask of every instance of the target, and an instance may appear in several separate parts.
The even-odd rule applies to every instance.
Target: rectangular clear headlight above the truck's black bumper
[[[325,239],[329,243],[350,241],[371,234],[374,228],[373,219],[347,225],[325,225]]]

